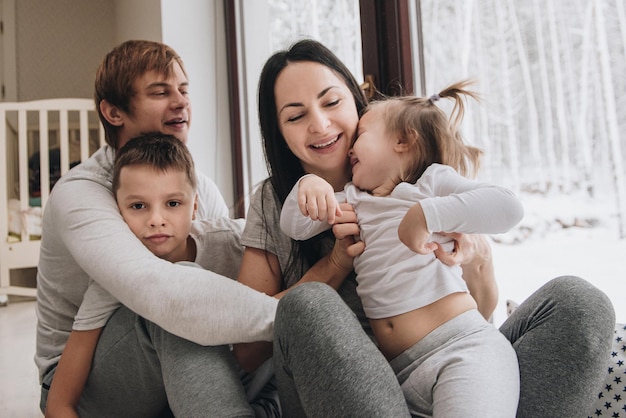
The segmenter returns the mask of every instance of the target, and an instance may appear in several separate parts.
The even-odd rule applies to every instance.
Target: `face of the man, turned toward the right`
[[[119,130],[122,148],[128,140],[149,132],[174,135],[187,143],[191,124],[189,81],[177,62],[172,64],[172,75],[166,77],[148,71],[133,83],[135,95],[130,99],[130,113],[121,112]],[[118,148],[118,149],[119,149]]]

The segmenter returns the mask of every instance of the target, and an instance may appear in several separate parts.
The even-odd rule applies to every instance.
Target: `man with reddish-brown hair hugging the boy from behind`
[[[151,355],[156,342],[146,321],[202,345],[272,339],[275,299],[216,273],[155,257],[129,230],[111,192],[115,153],[130,138],[160,131],[186,142],[188,86],[180,57],[156,42],[125,42],[98,69],[95,100],[107,145],[59,180],[43,219],[35,355],[42,411],[91,282],[123,306],[106,323],[90,324],[104,327],[80,399],[85,415],[149,416],[166,407],[163,358]],[[198,176],[197,218],[227,213],[217,187]],[[175,360],[185,351],[175,347],[169,355]]]

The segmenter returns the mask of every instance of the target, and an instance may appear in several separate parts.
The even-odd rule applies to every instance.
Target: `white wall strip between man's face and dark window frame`
[[[193,103],[189,148],[233,206],[226,35],[221,0],[161,0],[163,42],[185,62]]]

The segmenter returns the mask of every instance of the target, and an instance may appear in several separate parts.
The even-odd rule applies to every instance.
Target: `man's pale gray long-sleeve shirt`
[[[46,204],[37,273],[40,375],[61,355],[90,280],[163,329],[203,345],[271,341],[277,300],[216,273],[154,256],[130,231],[111,192],[105,146],[65,174]],[[199,217],[228,214],[199,177]]]

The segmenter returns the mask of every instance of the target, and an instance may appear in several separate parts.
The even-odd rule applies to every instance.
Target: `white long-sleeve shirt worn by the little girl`
[[[296,185],[281,212],[281,229],[297,240],[330,228],[298,208]],[[446,266],[434,254],[411,251],[398,238],[406,212],[420,202],[432,241],[452,250],[453,243],[437,232],[496,234],[508,231],[523,216],[509,190],[467,179],[451,167],[433,164],[413,185],[400,183],[384,197],[372,196],[348,183],[336,193],[339,202],[354,206],[365,251],[354,260],[357,292],[368,318],[387,318],[426,306],[448,294],[466,292],[459,266]]]

